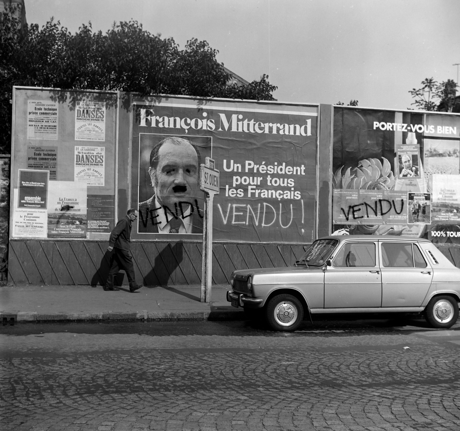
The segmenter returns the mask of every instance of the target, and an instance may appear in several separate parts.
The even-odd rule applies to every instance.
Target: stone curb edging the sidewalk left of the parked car
[[[0,312],[0,321],[7,322],[97,322],[97,321],[232,321],[244,320],[243,311],[211,310],[211,311],[147,311],[140,312],[92,312],[92,313],[38,313],[38,312]],[[4,324],[6,324],[4,322]]]

